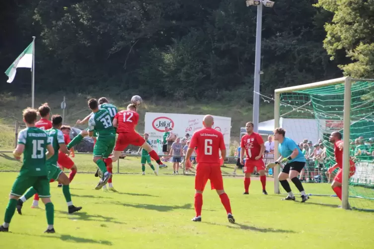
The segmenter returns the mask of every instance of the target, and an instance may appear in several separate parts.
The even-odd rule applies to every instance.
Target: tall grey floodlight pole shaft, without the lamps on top
[[[260,110],[260,70],[261,70],[261,29],[262,29],[262,2],[257,5],[257,25],[256,25],[256,56],[254,65],[254,85],[253,85],[253,131],[258,132],[259,110]]]

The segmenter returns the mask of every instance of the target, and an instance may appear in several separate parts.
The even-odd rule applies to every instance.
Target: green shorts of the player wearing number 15
[[[30,187],[35,188],[41,198],[51,197],[47,176],[29,176],[22,173],[15,179],[10,194],[20,197]]]

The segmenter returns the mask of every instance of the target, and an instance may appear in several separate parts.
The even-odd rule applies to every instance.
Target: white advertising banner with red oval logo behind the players
[[[184,137],[186,133],[190,136],[203,128],[204,115],[176,114],[176,113],[146,113],[144,132],[150,134],[150,142],[158,154],[162,154],[162,133],[165,127],[172,127],[173,133]],[[214,128],[224,135],[226,150],[230,146],[231,118],[213,116]]]

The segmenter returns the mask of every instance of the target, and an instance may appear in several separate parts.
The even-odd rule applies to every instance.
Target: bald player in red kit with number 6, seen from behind
[[[203,207],[203,191],[208,180],[211,180],[212,189],[216,189],[221,198],[221,202],[227,212],[227,219],[230,223],[235,223],[231,214],[230,199],[224,192],[224,181],[222,179],[220,165],[220,150],[222,159],[226,157],[226,147],[224,146],[224,136],[221,132],[212,128],[214,124],[213,117],[207,115],[204,117],[203,125],[205,128],[196,131],[191,139],[186,153],[186,164],[191,164],[190,157],[197,147],[198,163],[195,177],[195,211],[196,216],[192,221],[201,221],[201,209]]]

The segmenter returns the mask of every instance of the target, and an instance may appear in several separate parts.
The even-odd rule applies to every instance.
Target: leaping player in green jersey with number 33
[[[110,112],[106,109],[99,109],[96,99],[90,99],[88,106],[92,110],[92,115],[88,120],[88,135],[92,136],[94,130],[98,133],[93,147],[93,162],[97,164],[97,167],[103,173],[102,178],[95,187],[95,189],[100,189],[112,177],[112,173],[107,171],[103,159],[108,158],[113,151],[116,143],[116,131],[112,124]]]

